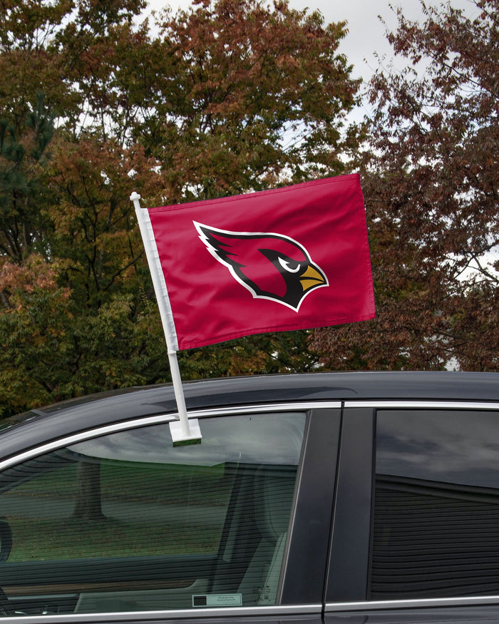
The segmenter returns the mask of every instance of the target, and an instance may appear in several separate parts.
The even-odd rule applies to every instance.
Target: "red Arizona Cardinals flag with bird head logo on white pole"
[[[358,174],[148,215],[174,349],[374,317]]]

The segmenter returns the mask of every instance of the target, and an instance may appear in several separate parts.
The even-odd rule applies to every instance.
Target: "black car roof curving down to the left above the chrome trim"
[[[317,372],[207,379],[183,387],[187,411],[295,401],[499,401],[499,374],[478,372]],[[63,401],[4,421],[0,456],[73,431],[175,411],[171,384]]]

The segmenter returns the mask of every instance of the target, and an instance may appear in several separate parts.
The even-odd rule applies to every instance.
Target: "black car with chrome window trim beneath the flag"
[[[499,622],[499,374],[184,392],[197,444],[168,385],[1,423],[4,620]]]

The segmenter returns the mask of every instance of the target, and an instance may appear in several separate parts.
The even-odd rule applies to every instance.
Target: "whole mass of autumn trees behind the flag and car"
[[[168,381],[135,214],[362,172],[376,319],[180,354],[184,379],[333,369],[497,370],[498,6],[398,10],[405,68],[369,86],[345,24],[287,1],[0,6],[0,416]],[[364,145],[360,140],[364,138]]]

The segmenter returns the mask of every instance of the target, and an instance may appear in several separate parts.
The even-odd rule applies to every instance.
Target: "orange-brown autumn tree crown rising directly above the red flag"
[[[209,198],[341,173],[341,128],[358,81],[336,53],[344,23],[255,0],[197,0],[163,14],[152,114],[141,141],[168,200]],[[165,61],[163,60],[163,63]],[[170,70],[170,71],[168,71]],[[177,79],[172,79],[172,73]]]

